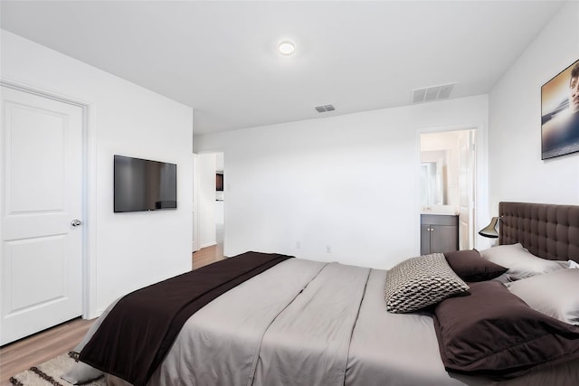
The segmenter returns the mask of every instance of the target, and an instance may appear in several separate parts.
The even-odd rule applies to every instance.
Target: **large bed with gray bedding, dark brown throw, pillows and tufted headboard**
[[[571,303],[565,304],[572,309],[565,309],[566,314],[561,316],[548,315],[541,310],[540,323],[537,326],[533,322],[531,328],[535,329],[534,333],[537,328],[546,328],[545,336],[550,341],[546,346],[536,339],[525,342],[531,346],[522,353],[532,358],[527,358],[525,363],[508,364],[505,373],[492,368],[492,362],[489,367],[489,363],[480,364],[470,359],[465,362],[464,359],[465,353],[476,349],[490,350],[495,360],[496,347],[480,348],[493,340],[484,340],[485,334],[492,333],[489,336],[504,334],[497,340],[508,345],[508,349],[503,347],[501,350],[509,352],[507,361],[512,361],[521,344],[520,337],[516,336],[518,332],[509,330],[510,325],[496,333],[493,330],[496,325],[470,322],[467,328],[475,328],[470,336],[480,338],[470,346],[465,346],[462,338],[457,340],[456,336],[447,333],[457,325],[464,327],[467,316],[486,307],[472,306],[474,298],[484,301],[491,297],[496,300],[492,303],[501,304],[499,299],[516,294],[511,299],[515,306],[505,303],[505,307],[536,313],[538,311],[531,304],[535,301],[533,290],[537,287],[550,286],[548,283],[555,280],[556,286],[563,286],[564,282],[571,286],[560,290],[573,291],[573,286],[579,284],[574,280],[576,276],[566,281],[561,278],[549,281],[550,276],[561,273],[579,273],[579,269],[569,268],[572,261],[579,262],[579,206],[500,202],[499,215],[500,246],[481,251],[480,259],[503,269],[487,279],[485,275],[489,269],[485,266],[484,278],[477,278],[477,282],[465,280],[469,285],[466,290],[462,284],[457,285],[462,293],[431,306],[403,313],[386,311],[384,303],[388,306],[393,303],[395,308],[413,302],[406,301],[408,297],[402,297],[403,301],[398,303],[384,301],[388,296],[388,285],[384,289],[386,279],[394,278],[399,271],[404,275],[404,266],[381,270],[275,255],[273,259],[280,261],[239,283],[225,278],[231,288],[222,289],[223,293],[211,300],[205,299],[196,306],[193,315],[184,318],[182,328],[177,329],[166,353],[160,354],[160,358],[158,354],[153,355],[158,365],[154,358],[155,366],[145,366],[149,369],[146,376],[141,376],[142,371],[135,372],[135,368],[128,370],[128,373],[133,371],[134,377],[127,376],[124,368],[139,363],[123,364],[119,369],[119,362],[127,361],[127,356],[140,355],[148,345],[135,345],[135,341],[146,335],[143,331],[158,329],[148,326],[142,327],[144,330],[138,330],[141,327],[132,330],[130,327],[124,332],[111,332],[114,326],[124,323],[121,318],[120,322],[109,323],[112,326],[109,327],[110,336],[101,335],[97,339],[107,318],[112,320],[110,313],[115,312],[117,305],[109,306],[76,347],[81,362],[66,374],[65,379],[88,381],[104,370],[109,385],[576,385],[579,383],[579,326],[574,325],[575,321],[579,325],[577,299],[572,298]],[[462,252],[454,257],[459,265],[467,261],[467,253],[479,254],[476,250],[459,253]],[[261,259],[261,254],[258,255]],[[523,257],[520,260],[517,259],[519,255]],[[527,264],[528,255],[531,258]],[[413,261],[424,265],[426,260],[422,258]],[[447,256],[433,259],[451,262]],[[507,268],[508,265],[512,268]],[[468,278],[474,281],[476,275],[472,273],[469,272]],[[537,285],[533,284],[534,280],[538,280]],[[538,291],[539,296],[555,292],[555,287],[553,291]],[[400,293],[398,291],[398,295]],[[579,296],[579,291],[559,295],[566,300]],[[521,299],[526,299],[529,306]],[[554,302],[541,299],[536,309],[553,306],[551,303]],[[457,312],[457,305],[465,308]],[[448,327],[448,321],[452,328]],[[133,351],[123,351],[127,344],[124,341],[118,344],[117,340],[132,332],[136,335],[133,336],[135,347]],[[509,341],[512,339],[514,343]],[[110,353],[111,346],[118,352]],[[86,353],[90,352],[87,347],[96,347],[98,354],[91,357]],[[513,350],[515,353],[510,353]],[[554,352],[546,357],[545,352],[549,351]],[[108,356],[113,367],[103,367],[95,362],[95,356]],[[474,368],[470,367],[472,362],[476,362]]]

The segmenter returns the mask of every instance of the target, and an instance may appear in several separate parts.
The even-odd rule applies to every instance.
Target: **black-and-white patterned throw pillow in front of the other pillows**
[[[416,311],[469,290],[442,253],[407,259],[388,270],[384,283],[386,310]]]

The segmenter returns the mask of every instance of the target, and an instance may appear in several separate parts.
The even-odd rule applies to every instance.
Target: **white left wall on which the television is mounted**
[[[193,111],[81,61],[1,31],[2,78],[90,103],[87,315],[191,269]],[[176,210],[113,213],[113,155],[177,164]]]

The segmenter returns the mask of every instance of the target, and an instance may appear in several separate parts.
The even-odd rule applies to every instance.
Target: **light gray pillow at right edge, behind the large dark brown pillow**
[[[579,269],[559,269],[506,286],[534,310],[579,325]]]

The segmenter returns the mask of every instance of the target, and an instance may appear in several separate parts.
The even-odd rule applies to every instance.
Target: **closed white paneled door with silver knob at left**
[[[83,111],[22,90],[1,91],[0,344],[6,344],[82,314]]]

